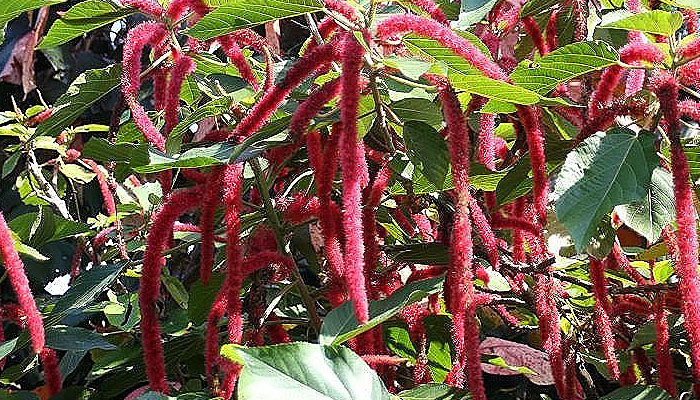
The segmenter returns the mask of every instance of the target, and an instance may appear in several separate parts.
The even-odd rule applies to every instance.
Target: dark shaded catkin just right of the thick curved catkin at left
[[[199,259],[199,278],[204,285],[209,284],[211,269],[214,264],[214,214],[221,202],[221,176],[223,167],[214,167],[207,177],[206,191],[202,200],[202,213],[199,216],[199,228],[202,232],[202,247]]]

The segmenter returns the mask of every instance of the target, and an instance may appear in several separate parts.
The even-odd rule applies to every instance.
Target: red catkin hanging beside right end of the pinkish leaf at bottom
[[[549,355],[549,364],[552,368],[557,393],[562,398],[567,398],[559,311],[556,305],[556,288],[557,285],[551,276],[546,274],[537,275],[535,282],[535,308],[540,327],[540,336],[542,336],[542,347]]]

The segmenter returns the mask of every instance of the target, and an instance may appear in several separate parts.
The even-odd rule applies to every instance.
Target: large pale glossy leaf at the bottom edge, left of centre
[[[221,354],[243,364],[240,400],[389,400],[377,374],[347,347],[313,343],[244,348]]]

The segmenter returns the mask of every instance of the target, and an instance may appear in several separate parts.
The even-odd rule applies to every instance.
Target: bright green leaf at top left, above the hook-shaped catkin
[[[71,7],[53,23],[37,49],[60,46],[73,38],[135,13],[101,0],[87,0]]]

